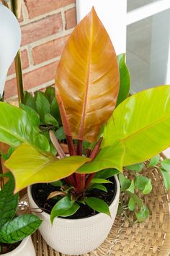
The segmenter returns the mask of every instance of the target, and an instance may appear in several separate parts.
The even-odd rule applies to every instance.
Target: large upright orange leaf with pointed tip
[[[94,142],[119,90],[117,56],[94,8],[68,39],[55,85],[66,135]]]

